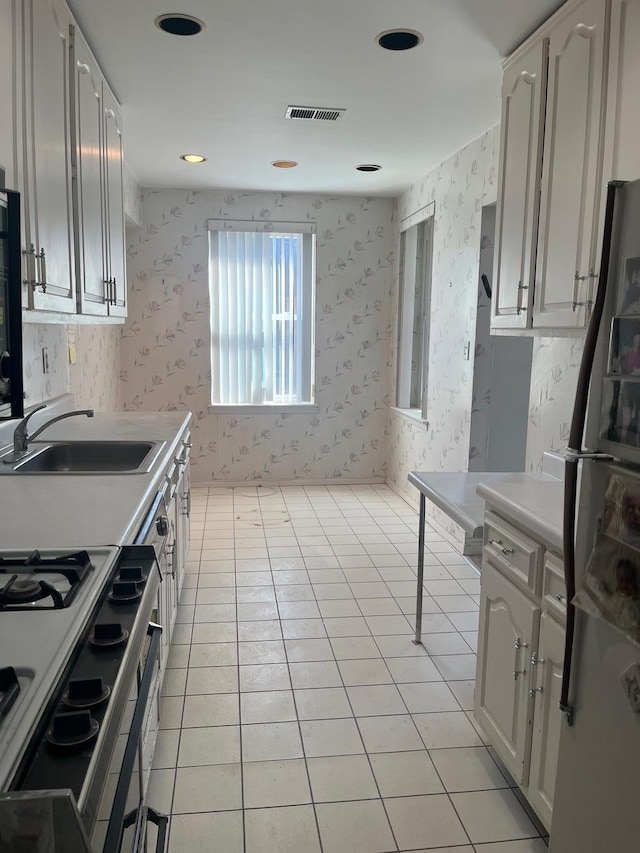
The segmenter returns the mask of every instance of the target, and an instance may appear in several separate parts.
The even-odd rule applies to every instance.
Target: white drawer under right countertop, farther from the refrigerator
[[[484,554],[533,595],[540,589],[542,546],[492,512],[484,517]]]

